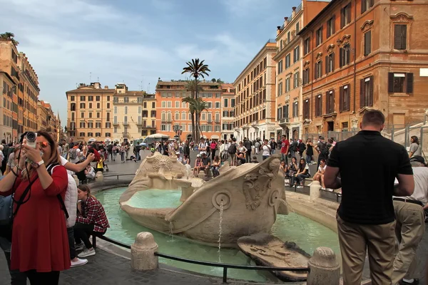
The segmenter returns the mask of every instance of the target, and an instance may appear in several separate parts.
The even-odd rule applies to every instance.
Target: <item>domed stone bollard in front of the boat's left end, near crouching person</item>
[[[158,251],[153,234],[151,232],[140,232],[136,241],[131,245],[131,268],[136,270],[153,270],[158,268]]]

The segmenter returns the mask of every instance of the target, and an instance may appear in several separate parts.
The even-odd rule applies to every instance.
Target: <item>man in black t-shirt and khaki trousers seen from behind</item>
[[[392,195],[412,195],[412,166],[402,145],[382,137],[382,112],[367,111],[360,127],[360,133],[333,147],[324,174],[325,187],[342,187],[337,233],[343,283],[361,283],[368,250],[372,283],[392,284],[395,244]],[[399,184],[394,186],[396,177]]]

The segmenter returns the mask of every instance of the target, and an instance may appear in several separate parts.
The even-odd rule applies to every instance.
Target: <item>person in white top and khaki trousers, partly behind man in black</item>
[[[418,284],[414,279],[417,269],[417,246],[425,233],[424,209],[428,209],[428,167],[424,157],[410,159],[414,177],[414,192],[411,196],[393,196],[395,235],[399,242],[394,259],[392,284]],[[398,183],[396,181],[396,183]]]

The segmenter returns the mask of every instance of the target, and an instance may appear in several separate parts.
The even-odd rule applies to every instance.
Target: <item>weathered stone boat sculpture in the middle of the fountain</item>
[[[239,167],[225,165],[220,176],[204,182],[189,175],[174,157],[156,152],[142,162],[121,195],[121,209],[144,227],[213,245],[218,245],[221,214],[222,246],[236,247],[240,237],[268,233],[277,214],[288,214],[278,157]],[[143,209],[127,204],[138,191],[178,188],[183,204],[177,208]]]

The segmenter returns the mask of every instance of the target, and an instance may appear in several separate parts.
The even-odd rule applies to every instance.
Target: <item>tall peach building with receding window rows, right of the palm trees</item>
[[[236,78],[235,129],[237,140],[275,138],[275,40],[269,40]]]

